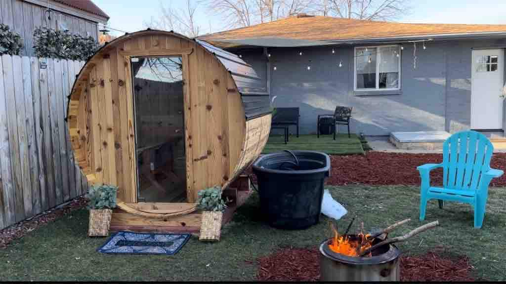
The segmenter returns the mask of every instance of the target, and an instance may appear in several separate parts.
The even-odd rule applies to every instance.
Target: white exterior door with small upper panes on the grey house
[[[471,128],[502,129],[504,52],[473,50]]]

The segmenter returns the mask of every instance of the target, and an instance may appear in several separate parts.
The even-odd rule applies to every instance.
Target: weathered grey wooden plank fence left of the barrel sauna
[[[85,62],[0,60],[0,229],[86,193],[71,150],[68,94]]]

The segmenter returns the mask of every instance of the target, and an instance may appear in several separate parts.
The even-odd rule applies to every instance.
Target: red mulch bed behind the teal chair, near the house
[[[370,151],[365,155],[331,156],[331,173],[326,183],[331,185],[371,184],[419,185],[416,167],[428,163],[441,163],[443,154],[410,154]],[[506,171],[506,153],[492,156],[494,169]],[[442,169],[431,172],[431,182],[442,184]],[[506,175],[494,178],[491,186],[506,186]]]

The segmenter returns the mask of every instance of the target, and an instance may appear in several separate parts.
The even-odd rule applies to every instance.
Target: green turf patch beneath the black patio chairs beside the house
[[[364,154],[362,144],[356,134],[337,134],[335,140],[332,135],[290,135],[288,144],[284,144],[283,135],[271,135],[262,154],[268,154],[281,150],[312,150],[320,151],[329,155],[352,155]]]

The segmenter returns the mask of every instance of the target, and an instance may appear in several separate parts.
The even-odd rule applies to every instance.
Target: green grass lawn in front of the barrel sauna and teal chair
[[[353,215],[355,224],[366,229],[383,228],[405,218],[412,221],[392,236],[421,225],[418,222],[416,186],[329,187],[332,196],[349,213],[339,221],[341,231]],[[426,231],[399,244],[404,254],[421,254],[438,246],[448,254],[471,258],[478,279],[506,279],[506,188],[491,188],[482,229],[473,228],[469,205],[448,203],[444,210],[431,201],[423,223],[440,221]],[[331,233],[326,217],[306,230],[285,231],[261,222],[258,196],[252,195],[222,230],[218,243],[192,239],[174,256],[105,255],[95,250],[105,238],[87,236],[88,211],[78,210],[41,227],[0,251],[0,281],[157,281],[157,280],[255,280],[257,257],[280,247],[313,247]]]

